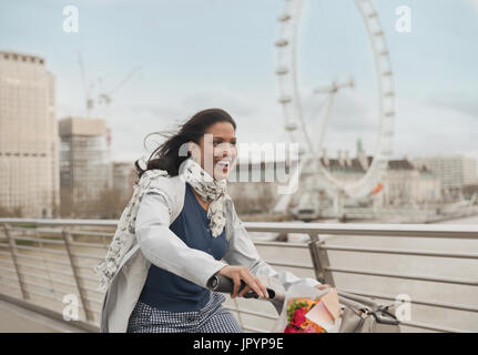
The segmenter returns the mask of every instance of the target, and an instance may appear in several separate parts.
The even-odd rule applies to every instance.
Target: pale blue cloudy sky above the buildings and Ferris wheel
[[[307,0],[301,18],[298,82],[315,87],[354,78],[328,118],[329,155],[358,138],[373,154],[377,85],[364,23],[352,0]],[[0,2],[0,50],[41,55],[55,77],[57,116],[84,115],[81,53],[91,94],[113,94],[112,154],[132,161],[195,112],[223,108],[238,142],[287,142],[281,105],[277,17],[284,0],[19,0]],[[393,154],[466,154],[478,159],[478,1],[374,1],[389,47],[396,92]],[[63,31],[63,8],[78,9],[79,31]],[[396,9],[411,10],[411,32],[396,31]],[[100,85],[101,82],[101,85]],[[314,104],[319,104],[318,101]],[[93,112],[104,115],[103,110]],[[311,134],[315,136],[314,120]]]

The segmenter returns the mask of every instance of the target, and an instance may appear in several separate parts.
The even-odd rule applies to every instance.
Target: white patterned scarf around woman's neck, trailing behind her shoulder
[[[136,213],[151,181],[157,176],[166,175],[167,172],[163,170],[148,170],[134,185],[133,195],[121,214],[106,256],[94,266],[94,272],[100,276],[99,291],[106,292],[123,256],[130,251],[134,243]],[[225,225],[224,200],[226,180],[212,179],[192,158],[182,163],[180,176],[183,181],[190,183],[204,201],[211,201],[207,209],[210,229],[214,237],[221,235]]]

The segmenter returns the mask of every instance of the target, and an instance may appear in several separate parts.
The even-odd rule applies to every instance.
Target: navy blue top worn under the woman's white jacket
[[[221,260],[227,251],[225,231],[217,237],[213,237],[209,225],[207,212],[186,183],[183,210],[170,225],[170,230],[189,247],[206,252],[215,260]],[[140,300],[160,310],[191,312],[202,308],[210,300],[210,293],[207,288],[151,264]]]

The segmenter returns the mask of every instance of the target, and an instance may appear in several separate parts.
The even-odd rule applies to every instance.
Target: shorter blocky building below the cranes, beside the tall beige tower
[[[106,122],[65,118],[59,121],[59,132],[61,210],[83,213],[110,185]]]

